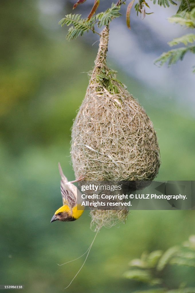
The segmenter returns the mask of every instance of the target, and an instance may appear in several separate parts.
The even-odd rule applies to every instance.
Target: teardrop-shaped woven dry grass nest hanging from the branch
[[[138,101],[106,65],[108,27],[86,96],[72,127],[72,163],[76,178],[85,180],[153,180],[160,166],[156,132]],[[143,188],[143,184],[140,184]],[[91,209],[95,230],[125,221],[128,210]]]

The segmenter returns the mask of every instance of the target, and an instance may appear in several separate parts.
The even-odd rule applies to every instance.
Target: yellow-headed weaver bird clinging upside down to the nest
[[[82,215],[84,210],[80,204],[77,204],[77,196],[81,196],[81,193],[72,183],[84,179],[84,176],[79,176],[79,178],[74,181],[68,181],[62,172],[60,163],[58,163],[58,167],[62,178],[60,182],[60,189],[62,193],[63,206],[57,209],[51,219],[51,223],[57,220],[63,222],[75,221]]]

